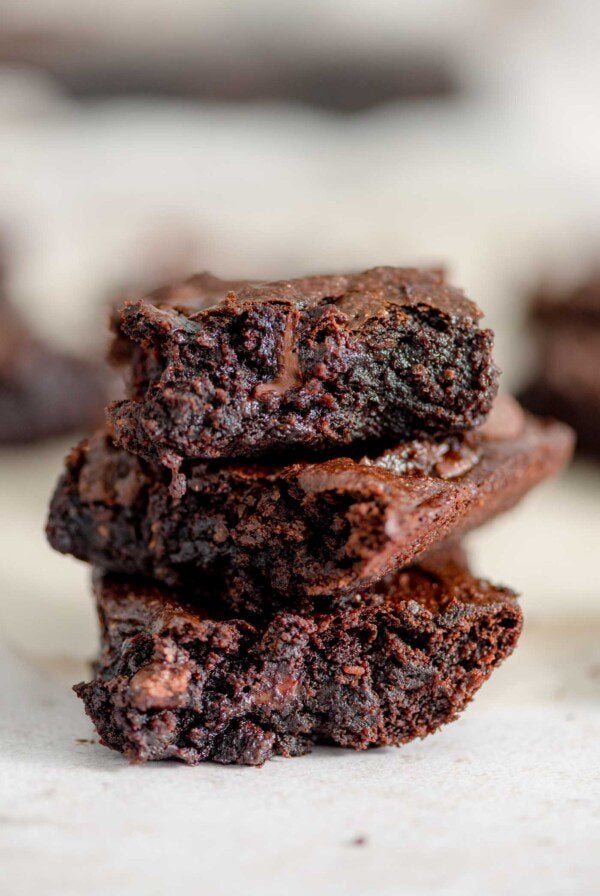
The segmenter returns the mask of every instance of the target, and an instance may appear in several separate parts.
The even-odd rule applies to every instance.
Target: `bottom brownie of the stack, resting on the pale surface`
[[[96,576],[102,652],[75,691],[134,762],[262,765],[317,743],[362,750],[456,718],[513,650],[512,592],[456,563],[397,573],[330,614],[215,618],[139,579]]]

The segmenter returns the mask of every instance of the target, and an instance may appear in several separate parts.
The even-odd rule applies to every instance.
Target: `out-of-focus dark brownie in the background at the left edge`
[[[97,426],[104,401],[99,367],[46,345],[0,297],[0,444]]]

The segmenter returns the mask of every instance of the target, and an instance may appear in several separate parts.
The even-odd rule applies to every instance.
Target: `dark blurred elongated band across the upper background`
[[[459,90],[449,59],[405,48],[397,55],[362,50],[284,54],[270,47],[232,54],[224,43],[221,48],[199,47],[193,56],[128,63],[103,59],[91,35],[18,31],[0,34],[0,62],[34,65],[73,96],[89,99],[142,95],[276,101],[358,112],[394,100],[448,97]]]

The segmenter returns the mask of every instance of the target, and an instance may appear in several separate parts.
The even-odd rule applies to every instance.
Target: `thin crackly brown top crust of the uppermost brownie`
[[[209,273],[163,287],[138,302],[126,302],[121,316],[132,308],[143,308],[156,323],[177,320],[178,315],[196,321],[219,307],[276,302],[299,310],[313,306],[335,306],[347,317],[351,329],[365,321],[385,317],[398,308],[428,307],[448,317],[477,321],[481,311],[464,293],[450,286],[439,270],[418,268],[372,268],[361,274],[302,277],[295,280],[255,283],[220,280]],[[117,315],[115,324],[118,329]]]

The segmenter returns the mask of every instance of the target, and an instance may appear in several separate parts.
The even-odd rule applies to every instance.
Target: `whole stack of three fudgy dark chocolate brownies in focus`
[[[480,316],[398,268],[202,274],[119,309],[128,398],[67,458],[47,529],[95,568],[102,650],[75,690],[104,744],[260,765],[456,718],[521,628],[460,537],[573,447],[494,403]]]

